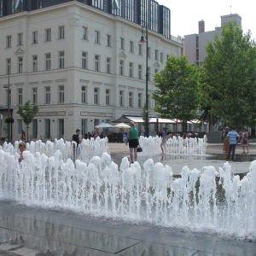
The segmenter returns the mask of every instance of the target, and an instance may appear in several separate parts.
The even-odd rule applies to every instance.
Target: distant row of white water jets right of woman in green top
[[[143,148],[143,155],[160,154],[161,137],[140,137],[139,144]],[[166,141],[166,154],[177,155],[205,155],[207,150],[207,137],[203,138],[184,138],[175,137],[169,138]]]

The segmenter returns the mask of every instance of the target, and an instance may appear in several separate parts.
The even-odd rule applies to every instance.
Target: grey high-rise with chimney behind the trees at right
[[[232,21],[235,25],[241,27],[240,15],[221,16],[221,27],[216,27],[213,31],[205,31],[205,21],[198,22],[198,33],[190,34],[184,37],[184,54],[187,56],[189,63],[199,65],[207,56],[206,46],[209,41],[213,41],[214,35],[221,35],[221,28]]]

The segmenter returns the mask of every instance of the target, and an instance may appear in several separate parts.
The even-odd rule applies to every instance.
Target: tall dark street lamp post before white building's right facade
[[[145,137],[149,136],[149,122],[148,122],[148,22],[145,22],[145,39],[143,36],[143,29],[142,29],[142,37],[140,43],[146,43],[146,103],[145,103]]]

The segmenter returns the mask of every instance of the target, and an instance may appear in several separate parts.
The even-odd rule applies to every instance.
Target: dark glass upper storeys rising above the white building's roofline
[[[0,0],[0,17],[73,0]],[[154,0],[77,0],[171,37],[171,11]]]

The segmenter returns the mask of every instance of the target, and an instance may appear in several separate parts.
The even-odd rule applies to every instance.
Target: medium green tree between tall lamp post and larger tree
[[[154,75],[154,110],[162,118],[182,120],[183,131],[186,131],[187,121],[197,117],[199,80],[198,67],[190,65],[184,55],[172,55],[167,59],[166,67]]]

